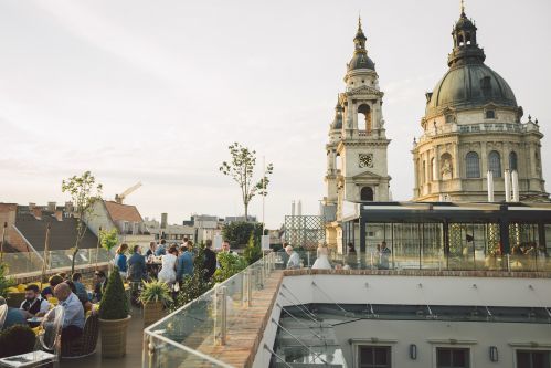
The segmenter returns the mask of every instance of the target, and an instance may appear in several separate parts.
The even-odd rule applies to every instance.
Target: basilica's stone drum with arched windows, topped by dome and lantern
[[[412,150],[413,199],[487,201],[492,180],[494,200],[501,201],[512,178],[520,201],[547,201],[538,122],[522,118],[509,84],[485,64],[464,9],[452,35],[449,70],[426,94],[423,135]]]

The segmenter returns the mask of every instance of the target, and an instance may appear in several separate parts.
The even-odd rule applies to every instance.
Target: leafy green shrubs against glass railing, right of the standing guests
[[[204,244],[201,243],[195,248],[195,256],[193,259],[193,276],[183,277],[180,292],[172,304],[171,309],[176,311],[189,302],[197,299],[199,296],[212,288],[213,282],[204,277]]]

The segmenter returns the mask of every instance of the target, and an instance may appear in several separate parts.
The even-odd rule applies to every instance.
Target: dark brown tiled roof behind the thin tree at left
[[[57,221],[47,212],[43,212],[41,220],[38,220],[30,213],[19,213],[15,219],[15,228],[38,252],[44,250],[47,223],[52,224],[50,231],[50,250],[68,250],[75,246],[76,219],[74,218],[64,218],[63,221]],[[87,230],[81,241],[80,248],[89,249],[96,246],[97,236]]]

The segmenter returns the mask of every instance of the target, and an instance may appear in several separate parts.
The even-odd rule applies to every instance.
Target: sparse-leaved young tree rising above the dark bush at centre
[[[234,143],[227,147],[232,156],[231,162],[224,161],[220,166],[223,175],[231,177],[240,187],[241,199],[245,208],[245,220],[248,221],[248,203],[256,194],[267,196],[266,188],[269,183],[268,175],[274,171],[274,165],[268,164],[264,176],[253,185],[254,168],[256,166],[256,151]]]

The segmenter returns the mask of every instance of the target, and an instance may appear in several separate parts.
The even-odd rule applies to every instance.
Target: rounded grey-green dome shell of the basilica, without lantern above
[[[444,108],[477,108],[489,103],[517,107],[517,99],[507,82],[484,63],[466,63],[451,67],[438,82],[426,106],[426,115]]]

